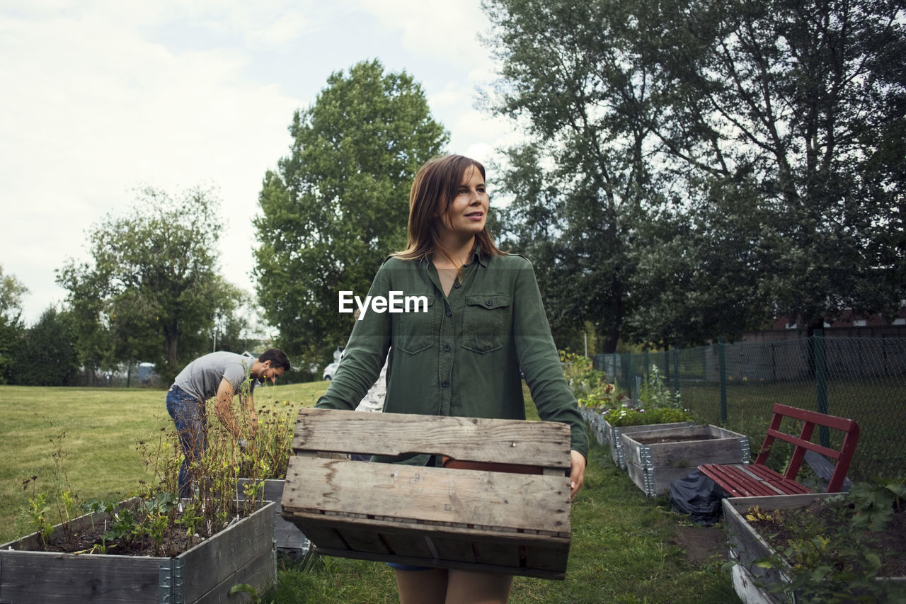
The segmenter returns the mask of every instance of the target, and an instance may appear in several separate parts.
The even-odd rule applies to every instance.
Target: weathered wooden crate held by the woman
[[[563,579],[570,544],[566,424],[301,409],[283,516],[326,555]],[[327,459],[447,455],[541,474]]]

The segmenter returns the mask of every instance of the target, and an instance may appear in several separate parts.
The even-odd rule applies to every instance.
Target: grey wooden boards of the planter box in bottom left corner
[[[93,515],[103,522],[106,514]],[[73,529],[92,525],[87,514]],[[58,524],[54,531],[62,530]],[[276,578],[274,503],[218,532],[176,558],[34,551],[37,533],[0,546],[0,602],[201,603],[235,602],[229,589],[269,587]]]

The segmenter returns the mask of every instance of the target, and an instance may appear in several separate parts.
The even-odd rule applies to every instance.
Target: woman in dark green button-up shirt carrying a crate
[[[389,299],[401,292],[427,304],[366,312],[356,321],[316,406],[354,408],[386,357],[385,413],[525,419],[521,368],[540,417],[572,426],[574,496],[588,447],[582,416],[564,380],[532,265],[496,248],[487,210],[485,169],[477,161],[448,155],[419,169],[410,192],[409,243],[384,261],[369,295]],[[506,602],[512,582],[496,573],[391,566],[403,604]]]

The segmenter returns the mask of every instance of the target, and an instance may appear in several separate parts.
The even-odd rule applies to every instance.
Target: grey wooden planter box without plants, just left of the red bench
[[[748,463],[748,437],[716,425],[686,425],[620,435],[626,471],[649,497],[702,463]]]

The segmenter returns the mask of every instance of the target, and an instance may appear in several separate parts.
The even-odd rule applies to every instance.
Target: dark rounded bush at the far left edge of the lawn
[[[12,383],[71,385],[78,359],[72,317],[48,307],[15,348]]]

